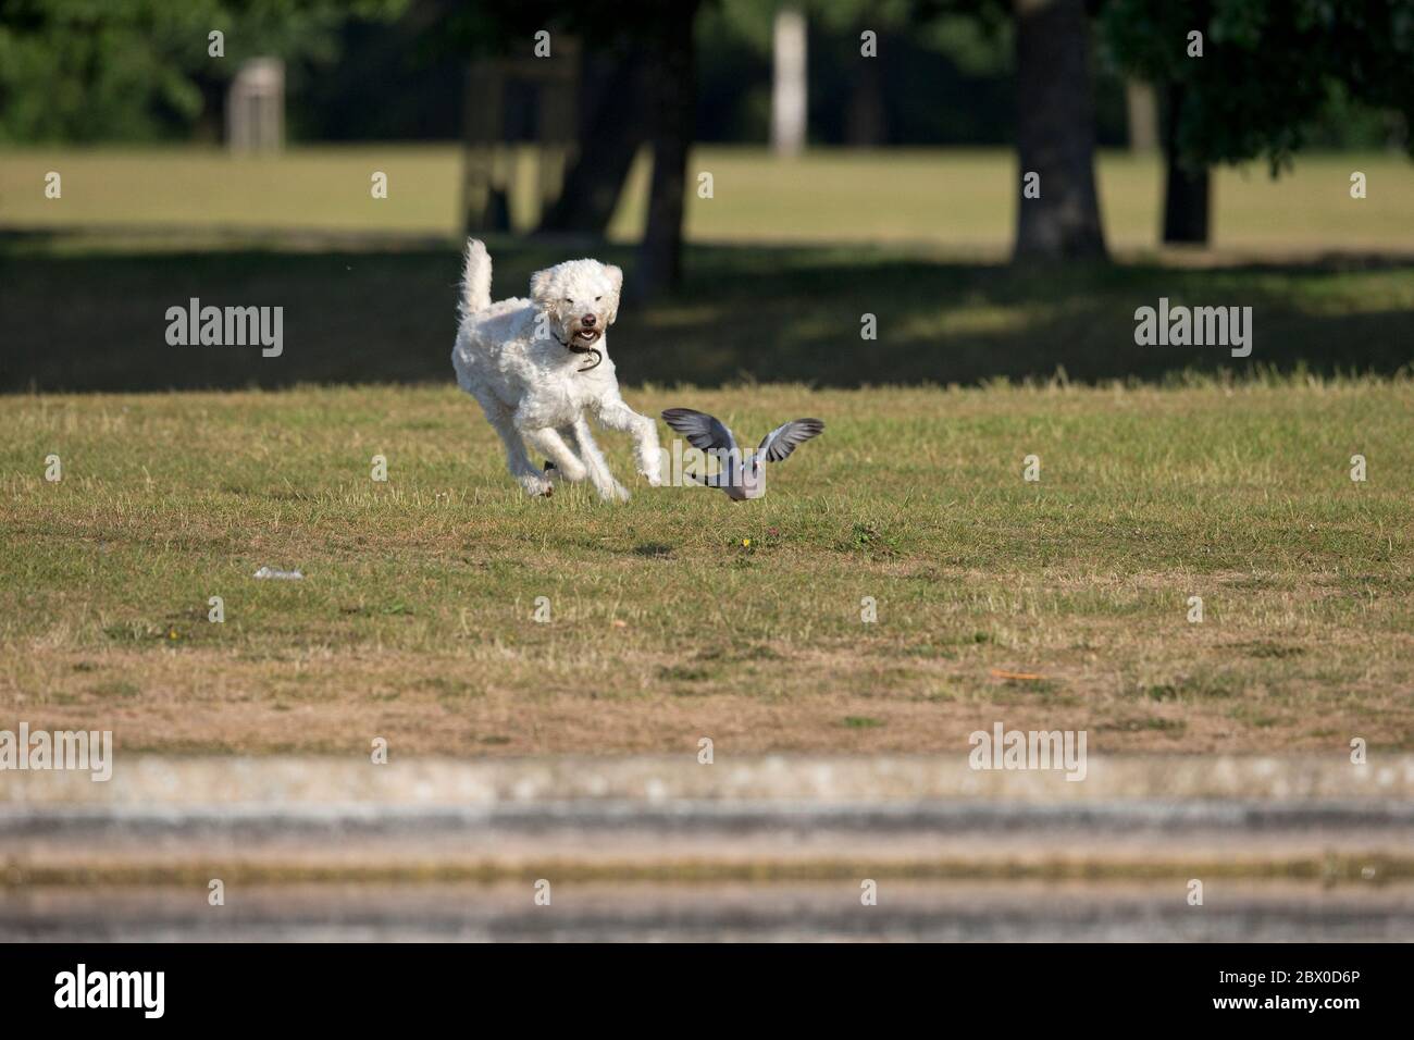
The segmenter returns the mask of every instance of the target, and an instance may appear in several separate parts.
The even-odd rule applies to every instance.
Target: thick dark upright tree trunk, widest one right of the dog
[[[1014,3],[1018,192],[1041,175],[1039,198],[1019,198],[1014,259],[1103,259],[1085,0]]]

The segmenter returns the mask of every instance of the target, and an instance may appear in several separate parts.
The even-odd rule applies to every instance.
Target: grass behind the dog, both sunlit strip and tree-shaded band
[[[443,382],[458,272],[451,147],[0,154],[0,391]],[[1216,248],[1154,250],[1159,170],[1107,154],[1120,265],[1000,265],[1012,229],[1005,151],[700,149],[714,198],[689,200],[680,293],[615,330],[629,382],[978,383],[993,376],[1161,379],[1232,365],[1222,349],[1140,348],[1134,310],[1251,306],[1240,369],[1390,374],[1410,364],[1414,190],[1397,156],[1304,156],[1273,183],[1217,175]],[[1350,200],[1349,167],[1370,177]],[[529,175],[530,166],[523,163]],[[62,200],[42,197],[48,168]],[[390,174],[375,201],[368,171]],[[592,252],[632,275],[643,170],[614,242],[492,238],[495,289]],[[771,245],[771,243],[776,245]],[[287,349],[175,352],[164,314],[199,297],[279,304]],[[875,316],[875,341],[861,318]]]

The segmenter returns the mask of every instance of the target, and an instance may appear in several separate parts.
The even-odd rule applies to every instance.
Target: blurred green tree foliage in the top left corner
[[[151,140],[189,133],[240,62],[338,57],[348,18],[406,0],[0,0],[0,140]],[[223,33],[223,55],[208,37]],[[216,105],[219,112],[219,103]]]

